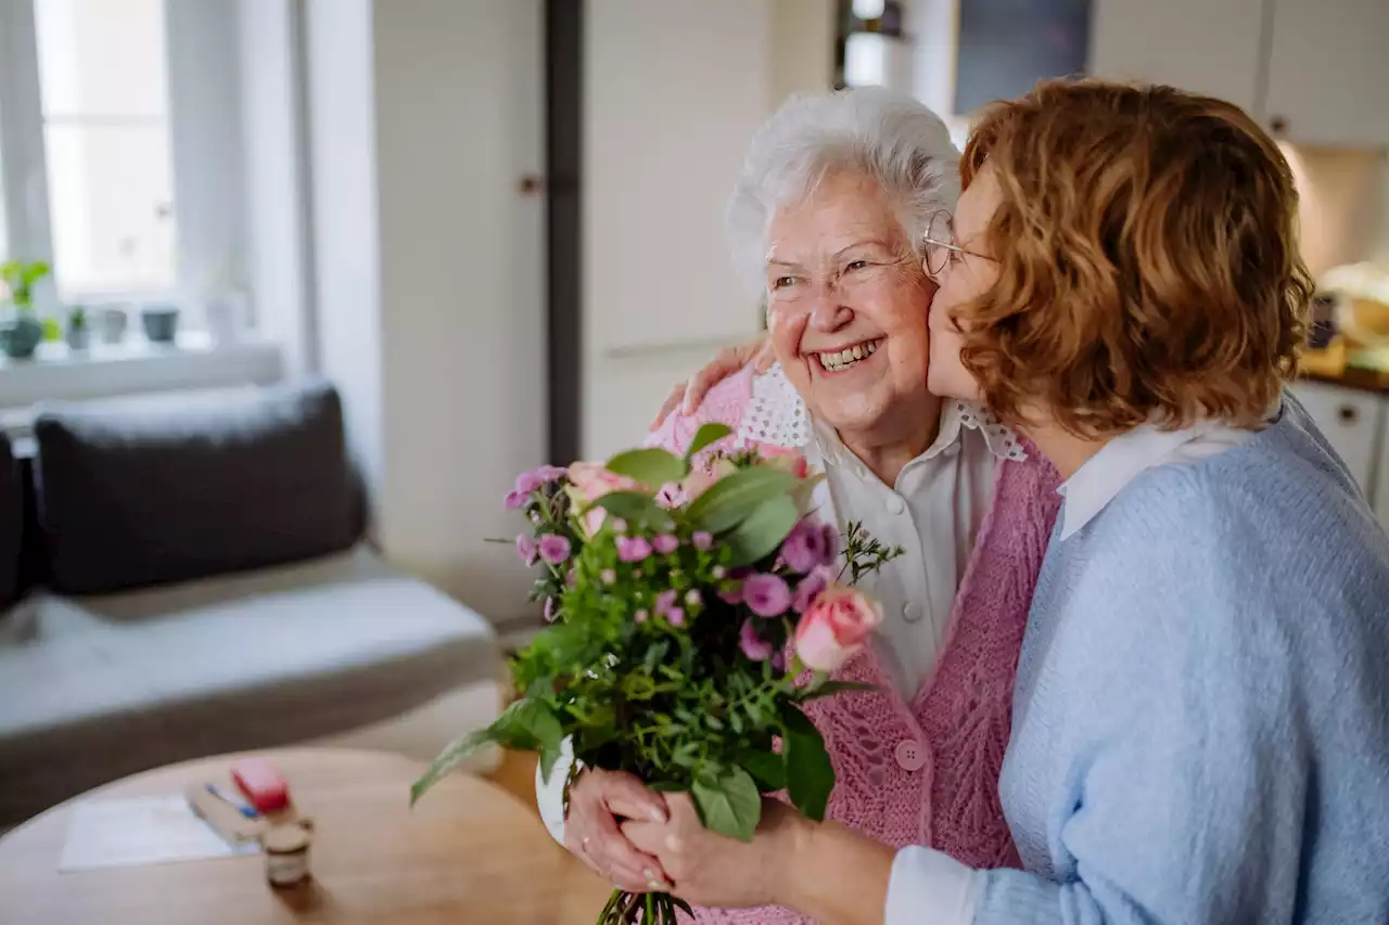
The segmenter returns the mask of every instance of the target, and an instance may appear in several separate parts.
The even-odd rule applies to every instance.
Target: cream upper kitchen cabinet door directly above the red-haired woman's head
[[[1265,0],[1092,0],[1089,72],[1258,104]]]

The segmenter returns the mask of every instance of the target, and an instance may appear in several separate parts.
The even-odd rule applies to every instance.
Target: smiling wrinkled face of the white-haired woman
[[[925,399],[935,286],[879,186],[829,174],[768,242],[772,349],[811,412],[863,432]]]

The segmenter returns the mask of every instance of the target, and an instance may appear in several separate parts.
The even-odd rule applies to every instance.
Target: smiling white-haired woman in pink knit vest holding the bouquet
[[[768,304],[779,367],[749,367],[657,442],[683,450],[704,421],[803,447],[828,474],[817,499],[904,554],[870,579],[886,622],[839,676],[870,693],[807,712],[838,774],[829,817],[888,844],[976,867],[1017,865],[997,803],[1013,676],[1060,500],[1054,469],[971,401],[926,390],[922,235],[956,199],[958,154],[910,97],[853,90],[796,99],[751,143],[729,210],[733,253]],[[589,771],[540,788],[551,832],[629,890],[667,889],[622,818],[665,818],[629,775]],[[676,881],[676,886],[679,886]],[[803,921],[786,910],[701,921]]]

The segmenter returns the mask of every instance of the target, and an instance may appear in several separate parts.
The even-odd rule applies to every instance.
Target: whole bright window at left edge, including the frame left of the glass
[[[0,0],[0,246],[51,262],[60,303],[178,286],[165,8]]]

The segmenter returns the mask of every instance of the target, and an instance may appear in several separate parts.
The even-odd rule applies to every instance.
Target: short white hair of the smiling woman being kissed
[[[881,185],[918,256],[931,215],[960,199],[950,131],[915,99],[883,88],[793,96],[757,129],[728,204],[733,265],[749,285],[765,286],[776,211],[803,201],[836,169]]]

